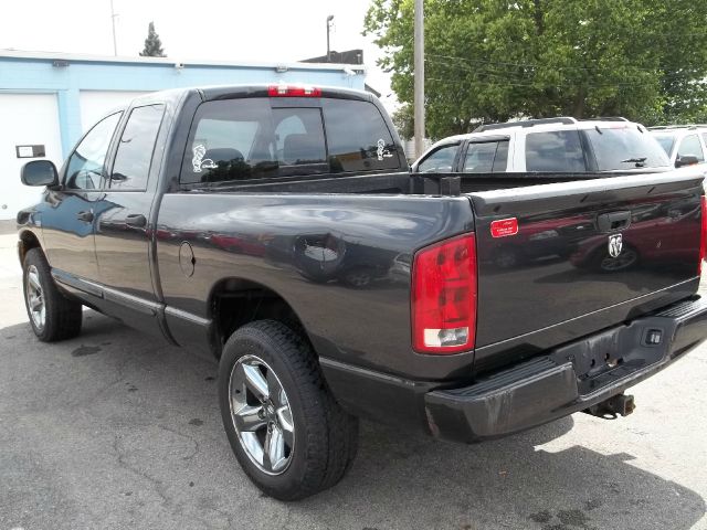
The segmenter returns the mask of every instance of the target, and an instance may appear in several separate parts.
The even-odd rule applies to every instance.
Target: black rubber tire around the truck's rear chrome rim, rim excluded
[[[294,444],[287,467],[277,475],[266,473],[249,456],[232,414],[232,372],[235,378],[238,365],[252,359],[267,364],[267,372],[272,368],[291,409]],[[356,456],[358,420],[331,396],[309,343],[282,322],[247,324],[226,341],[219,365],[219,404],[241,467],[263,492],[276,499],[303,499],[334,486]]]

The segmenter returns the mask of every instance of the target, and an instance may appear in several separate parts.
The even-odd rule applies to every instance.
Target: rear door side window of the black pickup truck
[[[147,105],[133,109],[115,156],[110,173],[112,189],[146,189],[163,112],[163,105]]]

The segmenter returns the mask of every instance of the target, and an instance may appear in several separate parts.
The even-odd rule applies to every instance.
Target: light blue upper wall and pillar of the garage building
[[[9,55],[8,55],[9,54]],[[80,59],[66,55],[17,56],[0,52],[0,92],[55,93],[62,151],[66,156],[82,132],[81,91],[151,92],[197,85],[246,83],[306,83],[319,86],[365,88],[362,71],[351,75],[342,65],[212,64],[173,61]],[[13,56],[14,55],[14,56]],[[39,54],[38,54],[39,55]],[[66,65],[56,66],[55,61]],[[61,63],[63,64],[63,63]],[[285,70],[277,72],[277,70]]]

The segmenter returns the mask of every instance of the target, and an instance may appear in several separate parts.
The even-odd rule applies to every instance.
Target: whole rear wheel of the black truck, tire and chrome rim
[[[309,343],[282,322],[236,330],[219,365],[231,448],[266,495],[297,500],[337,484],[358,448],[358,420],[328,391]]]

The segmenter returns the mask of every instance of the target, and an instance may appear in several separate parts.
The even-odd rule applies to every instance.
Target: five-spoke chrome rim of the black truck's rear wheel
[[[229,380],[231,420],[241,447],[267,475],[285,473],[295,447],[287,393],[273,369],[255,356],[240,358]]]

